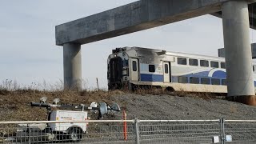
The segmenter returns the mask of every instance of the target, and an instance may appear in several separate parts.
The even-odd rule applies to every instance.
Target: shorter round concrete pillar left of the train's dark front
[[[82,89],[81,45],[66,43],[63,45],[64,88]]]

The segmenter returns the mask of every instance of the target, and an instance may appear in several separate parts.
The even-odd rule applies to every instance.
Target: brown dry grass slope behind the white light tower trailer
[[[91,102],[114,102],[113,95],[122,91],[39,91],[39,90],[0,90],[0,121],[46,120],[46,109],[31,107],[30,102],[38,102],[46,96],[47,102],[60,98],[62,103],[86,104]]]

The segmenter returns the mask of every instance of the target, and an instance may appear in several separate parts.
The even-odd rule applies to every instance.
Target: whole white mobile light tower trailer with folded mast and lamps
[[[111,112],[121,111],[117,103],[112,106],[105,102],[92,102],[90,106],[84,104],[62,104],[59,98],[55,98],[53,103],[47,103],[47,98],[40,98],[40,102],[31,102],[31,106],[44,107],[47,110],[48,121],[60,121],[60,123],[47,123],[43,124],[26,124],[19,125],[17,131],[18,141],[27,141],[22,138],[42,139],[46,141],[54,140],[70,140],[72,142],[79,142],[82,139],[82,134],[85,134],[88,122],[72,122],[72,121],[86,121],[88,120],[87,113],[98,113],[98,118],[102,118],[104,114],[110,114]],[[53,110],[54,108],[54,110]],[[69,109],[69,110],[56,110],[56,108]],[[68,123],[62,123],[67,121]],[[32,134],[32,135],[31,135]],[[42,137],[43,135],[43,137]],[[29,139],[31,141],[31,139]]]

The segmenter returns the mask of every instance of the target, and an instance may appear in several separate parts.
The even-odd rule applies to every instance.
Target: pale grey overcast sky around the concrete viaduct
[[[0,5],[0,83],[54,83],[63,79],[62,47],[54,26],[136,0],[5,0]],[[250,41],[256,42],[255,30]],[[223,47],[222,20],[211,15],[82,46],[82,78],[87,88],[107,87],[106,60],[111,50],[141,46],[218,56]]]

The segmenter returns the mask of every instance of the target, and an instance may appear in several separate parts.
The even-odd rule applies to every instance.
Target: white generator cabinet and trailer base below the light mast
[[[88,120],[86,111],[54,110],[50,113],[50,121],[86,120]],[[22,141],[35,142],[40,139],[52,141],[55,139],[79,142],[82,139],[82,134],[86,133],[87,126],[88,122],[50,123],[48,126],[46,124],[26,124],[19,125],[17,135]]]

